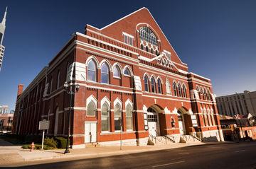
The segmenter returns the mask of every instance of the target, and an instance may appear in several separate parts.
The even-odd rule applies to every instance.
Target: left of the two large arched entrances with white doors
[[[160,136],[159,115],[154,107],[149,107],[147,109],[147,120],[149,126],[149,134],[152,136]]]

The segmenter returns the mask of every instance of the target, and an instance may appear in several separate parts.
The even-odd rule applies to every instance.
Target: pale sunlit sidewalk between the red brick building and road
[[[168,145],[157,145],[157,146],[122,146],[120,150],[119,146],[97,146],[80,149],[70,149],[70,153],[64,154],[64,149],[56,150],[35,150],[30,152],[29,150],[23,150],[21,148],[16,148],[16,153],[6,153],[5,156],[0,158],[0,166],[11,166],[11,165],[26,165],[29,161],[44,161],[47,160],[73,160],[79,158],[95,158],[95,157],[104,157],[104,156],[114,156],[122,155],[127,153],[142,153],[146,151],[158,151],[170,148],[181,148],[186,146],[203,146],[209,144],[229,144],[234,142],[208,142],[208,143],[193,143],[193,144],[168,144]],[[3,152],[0,146],[0,151]],[[8,156],[6,156],[8,155]]]

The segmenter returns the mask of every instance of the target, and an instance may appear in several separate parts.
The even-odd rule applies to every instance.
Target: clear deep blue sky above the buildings
[[[0,72],[0,105],[14,109],[25,86],[85,24],[102,28],[149,8],[190,71],[212,80],[217,95],[256,91],[256,1],[15,1],[9,7]]]

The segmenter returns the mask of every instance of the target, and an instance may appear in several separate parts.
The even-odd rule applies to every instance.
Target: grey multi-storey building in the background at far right
[[[220,115],[248,115],[256,116],[256,91],[244,91],[233,95],[223,95],[216,98]]]

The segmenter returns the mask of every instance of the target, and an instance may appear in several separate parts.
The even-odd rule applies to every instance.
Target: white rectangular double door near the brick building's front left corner
[[[85,143],[97,141],[97,122],[85,122]]]

